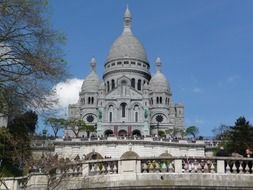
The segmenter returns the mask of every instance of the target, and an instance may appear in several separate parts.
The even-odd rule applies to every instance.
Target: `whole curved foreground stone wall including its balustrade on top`
[[[13,190],[44,190],[102,187],[188,186],[193,189],[252,189],[253,159],[235,157],[149,157],[89,160],[53,168],[48,174],[31,173],[19,178],[3,178]],[[150,183],[147,181],[150,180]],[[185,180],[181,180],[185,179]],[[163,180],[163,182],[161,182]],[[97,183],[100,181],[100,183]],[[85,182],[85,183],[84,183]],[[197,188],[198,187],[198,188]],[[6,189],[3,184],[0,189]],[[223,188],[224,189],[224,188]]]

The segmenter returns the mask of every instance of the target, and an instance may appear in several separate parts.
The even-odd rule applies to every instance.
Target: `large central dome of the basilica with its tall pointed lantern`
[[[131,20],[131,13],[127,8],[124,15],[123,33],[113,43],[107,57],[107,62],[122,58],[131,58],[148,62],[143,45],[132,34]]]

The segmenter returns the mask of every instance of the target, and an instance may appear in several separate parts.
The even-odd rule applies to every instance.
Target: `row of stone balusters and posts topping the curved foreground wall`
[[[54,168],[54,174],[71,177],[133,173],[252,174],[252,158],[160,157],[90,160]],[[53,171],[52,170],[52,171]],[[51,172],[52,173],[52,172]]]

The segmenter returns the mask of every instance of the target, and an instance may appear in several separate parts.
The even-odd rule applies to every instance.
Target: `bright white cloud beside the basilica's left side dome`
[[[56,109],[67,109],[69,104],[77,103],[83,80],[78,78],[67,79],[53,87],[58,98]]]

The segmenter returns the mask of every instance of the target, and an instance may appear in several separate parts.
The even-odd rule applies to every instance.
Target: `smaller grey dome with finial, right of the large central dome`
[[[161,60],[159,57],[156,59],[156,67],[157,71],[149,82],[150,90],[153,92],[170,92],[169,83],[164,74],[161,73]]]

